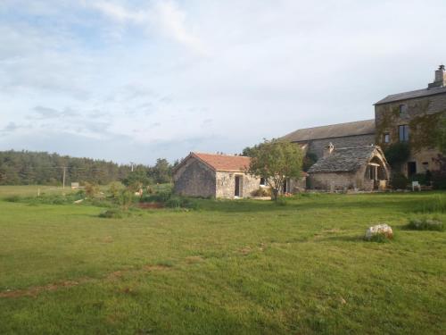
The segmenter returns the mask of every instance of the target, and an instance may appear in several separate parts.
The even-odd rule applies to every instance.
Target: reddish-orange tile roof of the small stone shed
[[[215,171],[224,172],[244,172],[251,162],[250,157],[241,155],[217,155],[217,154],[202,154],[191,153],[191,155],[207,163]]]

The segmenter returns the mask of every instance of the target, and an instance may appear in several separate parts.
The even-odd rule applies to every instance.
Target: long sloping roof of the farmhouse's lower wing
[[[312,139],[343,138],[346,136],[374,135],[375,119],[330,124],[328,126],[295,130],[282,139],[291,142],[303,142]]]

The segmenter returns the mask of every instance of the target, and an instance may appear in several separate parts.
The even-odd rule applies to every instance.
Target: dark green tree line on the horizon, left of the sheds
[[[132,174],[144,174],[150,183],[166,183],[172,178],[173,166],[164,158],[153,166],[118,164],[92,158],[31,151],[0,151],[0,185],[65,185],[71,182],[106,185],[125,181]]]

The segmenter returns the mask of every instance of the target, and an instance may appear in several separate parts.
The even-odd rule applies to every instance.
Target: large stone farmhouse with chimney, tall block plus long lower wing
[[[407,177],[438,169],[435,158],[437,124],[446,113],[446,69],[435,71],[427,88],[386,96],[375,104],[375,119],[295,130],[283,139],[300,145],[318,159],[333,144],[336,150],[377,145],[383,149],[397,142],[408,143],[411,155],[402,164]],[[313,171],[314,172],[314,171]],[[349,184],[352,184],[350,180]]]

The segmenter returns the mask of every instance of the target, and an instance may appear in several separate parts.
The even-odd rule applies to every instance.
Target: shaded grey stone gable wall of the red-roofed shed
[[[216,197],[215,172],[189,158],[174,174],[174,193],[187,197]]]

